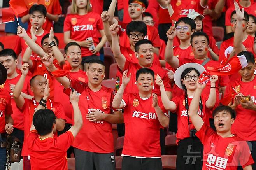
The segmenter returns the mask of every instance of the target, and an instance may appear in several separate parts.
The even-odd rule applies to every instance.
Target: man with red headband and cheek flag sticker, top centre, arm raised
[[[123,23],[114,19],[114,9],[116,6],[117,0],[112,0],[110,7],[109,7],[109,23],[112,25],[114,22],[120,26],[120,30],[118,35],[120,36],[120,46],[129,47],[128,36],[126,34],[126,26],[128,23]],[[128,2],[128,12],[132,21],[142,21],[142,14],[146,11],[149,2],[147,0],[129,0]],[[158,35],[158,30],[154,26],[147,26],[147,35],[144,39],[149,39],[152,41],[154,46],[154,53],[159,55],[159,48],[161,47],[160,38]]]

